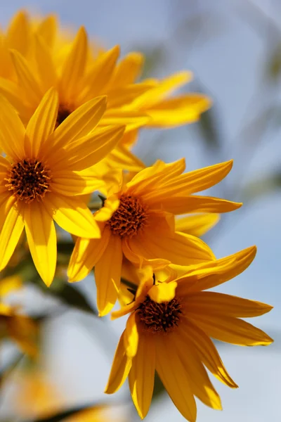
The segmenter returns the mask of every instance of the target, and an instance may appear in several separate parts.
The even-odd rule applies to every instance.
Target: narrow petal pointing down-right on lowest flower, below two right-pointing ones
[[[190,320],[185,321],[183,329],[179,326],[178,331],[183,340],[186,339],[186,341],[190,342],[195,347],[202,363],[219,381],[228,385],[230,388],[238,388],[238,385],[226,371],[214,343],[204,331]]]

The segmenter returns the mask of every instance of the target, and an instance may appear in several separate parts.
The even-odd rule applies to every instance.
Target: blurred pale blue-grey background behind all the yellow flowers
[[[251,267],[220,286],[220,291],[273,305],[275,309],[270,314],[252,322],[273,337],[275,343],[254,348],[217,345],[240,388],[230,390],[212,380],[221,395],[223,412],[198,402],[197,420],[279,422],[280,0],[11,0],[1,2],[1,25],[5,27],[19,8],[41,14],[57,13],[61,23],[74,29],[85,25],[89,35],[107,48],[120,44],[122,55],[142,51],[146,56],[143,77],[192,70],[195,78],[187,89],[202,91],[213,99],[214,106],[196,124],[141,132],[134,152],[147,165],[157,158],[171,162],[185,157],[188,170],[235,160],[233,171],[211,189],[211,194],[243,201],[244,206],[223,215],[204,239],[217,257],[257,245],[258,253]],[[62,397],[65,409],[112,404],[107,420],[118,417],[119,421],[138,421],[128,385],[114,397],[103,394],[125,321],[111,323],[108,318],[99,320],[91,314],[89,309],[95,304],[92,276],[75,288],[79,289],[77,294],[81,293],[80,307],[84,310],[70,306],[72,292],[67,293],[68,290],[58,289],[60,302],[38,286],[29,286],[20,293],[26,309],[41,322],[42,368],[50,383],[46,382],[50,406],[55,406],[56,401],[60,404],[58,397]],[[45,314],[48,317],[43,317]],[[25,364],[24,358],[10,345],[2,347],[0,356],[1,373],[13,364],[10,381],[1,389],[0,420],[28,420],[19,414],[15,417],[20,397],[27,407],[31,406],[28,397],[18,391],[17,373]],[[35,405],[32,398],[32,406]],[[59,420],[63,419],[48,419]],[[88,420],[96,419],[86,416],[84,421]],[[158,386],[146,421],[171,420],[184,419]]]

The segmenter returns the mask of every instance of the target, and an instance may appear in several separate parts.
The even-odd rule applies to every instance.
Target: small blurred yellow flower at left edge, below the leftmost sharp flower
[[[20,276],[9,276],[0,280],[0,340],[15,341],[22,352],[36,357],[38,353],[37,324],[28,316],[19,313],[18,307],[7,305],[3,298],[22,286]]]

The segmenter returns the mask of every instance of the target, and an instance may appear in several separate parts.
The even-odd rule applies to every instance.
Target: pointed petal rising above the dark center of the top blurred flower
[[[85,28],[81,27],[63,64],[59,84],[60,97],[63,98],[63,101],[77,94],[77,87],[84,75],[87,53],[87,34]]]

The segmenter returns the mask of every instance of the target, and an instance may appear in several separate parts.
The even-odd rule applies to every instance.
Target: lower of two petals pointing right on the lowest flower
[[[232,316],[188,314],[209,337],[240,346],[270,345],[273,339],[242,319]]]

